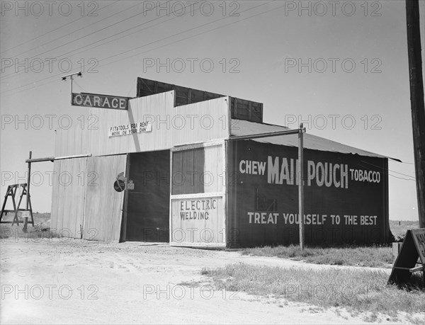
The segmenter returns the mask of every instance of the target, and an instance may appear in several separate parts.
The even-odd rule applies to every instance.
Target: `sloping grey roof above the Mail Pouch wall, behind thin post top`
[[[276,131],[283,131],[283,130],[289,130],[289,128],[281,126],[281,125],[256,123],[256,122],[249,122],[246,120],[232,119],[231,136],[256,135],[259,133],[276,132]],[[280,145],[289,146],[289,147],[298,147],[297,135],[280,135],[277,137],[263,137],[263,138],[253,139],[252,141],[265,142],[270,144],[280,144]],[[396,158],[383,156],[382,154],[375,154],[373,152],[368,152],[366,150],[358,149],[355,147],[350,147],[350,146],[347,146],[346,144],[334,142],[329,139],[325,139],[323,137],[317,137],[315,135],[309,135],[308,133],[305,133],[304,135],[304,147],[305,149],[320,150],[323,152],[341,152],[342,154],[358,154],[361,156],[390,158],[395,161],[402,162],[401,160]]]

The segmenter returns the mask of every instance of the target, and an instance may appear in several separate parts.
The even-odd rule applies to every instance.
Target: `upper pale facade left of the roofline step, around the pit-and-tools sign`
[[[88,108],[97,119],[81,128],[79,123],[69,130],[57,130],[55,156],[74,154],[124,154],[148,152],[172,147],[171,120],[174,91],[129,101],[128,110]],[[109,128],[136,122],[152,122],[152,132],[109,137]],[[82,130],[81,130],[82,129]]]

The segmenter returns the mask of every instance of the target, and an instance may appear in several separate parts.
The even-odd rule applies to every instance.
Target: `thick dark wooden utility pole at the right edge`
[[[418,198],[419,227],[425,228],[425,107],[418,0],[406,0],[406,18],[416,194]]]

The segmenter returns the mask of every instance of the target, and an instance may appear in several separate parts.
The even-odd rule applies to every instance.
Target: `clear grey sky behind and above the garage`
[[[53,156],[55,129],[94,122],[60,78],[83,70],[75,92],[135,96],[142,76],[259,101],[264,122],[401,159],[390,219],[418,219],[404,1],[0,4],[2,200],[30,150]],[[50,212],[53,164],[32,168],[33,209]]]

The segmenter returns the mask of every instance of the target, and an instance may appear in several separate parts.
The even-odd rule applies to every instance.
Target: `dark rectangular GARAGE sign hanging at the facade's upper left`
[[[128,98],[96,93],[72,93],[72,105],[128,110]]]

